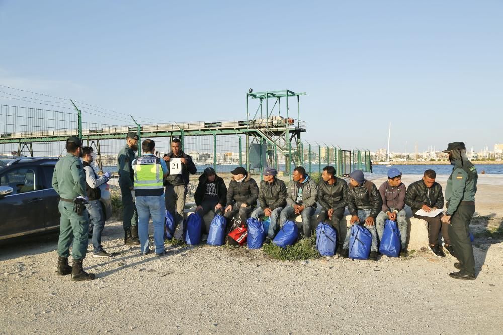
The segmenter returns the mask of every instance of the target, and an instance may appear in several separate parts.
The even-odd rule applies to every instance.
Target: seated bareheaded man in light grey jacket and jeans
[[[297,215],[302,215],[302,233],[305,238],[311,236],[311,216],[318,201],[318,188],[302,166],[293,169],[290,190],[286,198],[287,206],[281,211],[280,225]]]

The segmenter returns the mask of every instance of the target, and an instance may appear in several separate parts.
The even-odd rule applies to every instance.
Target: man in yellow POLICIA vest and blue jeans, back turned
[[[166,254],[164,249],[164,216],[166,212],[164,178],[166,178],[168,170],[166,162],[154,156],[155,142],[153,140],[143,141],[141,149],[145,155],[132,162],[140,252],[143,255],[150,252],[148,248],[148,221],[152,217],[155,255],[161,256]]]

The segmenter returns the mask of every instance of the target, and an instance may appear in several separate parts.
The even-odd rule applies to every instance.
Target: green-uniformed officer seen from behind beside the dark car
[[[89,221],[83,210],[86,201],[86,175],[82,168],[82,141],[78,137],[66,140],[66,156],[61,158],[54,168],[52,187],[59,194],[59,240],[58,240],[58,275],[71,273],[71,280],[93,280],[95,275],[86,273],[82,261],[88,249]],[[73,267],[68,265],[70,245],[73,242],[71,256]]]

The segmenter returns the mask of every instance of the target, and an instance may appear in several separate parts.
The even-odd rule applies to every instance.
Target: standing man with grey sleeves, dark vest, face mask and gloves
[[[103,227],[105,227],[105,214],[100,202],[100,185],[110,179],[110,173],[105,172],[101,177],[96,175],[96,172],[91,167],[91,163],[94,160],[93,148],[82,147],[82,154],[82,165],[86,174],[86,194],[89,199],[86,209],[89,213],[89,223],[93,227],[93,257],[110,257],[112,254],[107,253],[101,245],[101,233],[103,232]]]

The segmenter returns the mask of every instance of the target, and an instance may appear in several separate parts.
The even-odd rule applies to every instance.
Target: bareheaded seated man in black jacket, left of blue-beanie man
[[[333,166],[325,166],[318,182],[318,202],[322,209],[318,215],[318,224],[327,222],[337,231],[339,239],[337,252],[340,254],[346,237],[346,220],[343,220],[344,208],[348,203],[348,183],[336,177]]]

